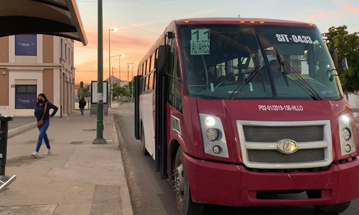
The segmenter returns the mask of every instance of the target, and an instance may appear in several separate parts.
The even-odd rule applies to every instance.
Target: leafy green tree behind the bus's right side
[[[324,35],[334,39],[335,49],[338,55],[338,64],[343,58],[348,60],[349,70],[344,73],[341,67],[338,67],[338,74],[341,79],[344,92],[354,93],[359,91],[359,33],[349,34],[347,26],[331,27]]]

